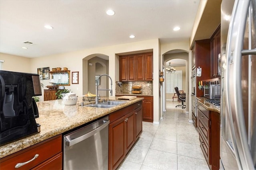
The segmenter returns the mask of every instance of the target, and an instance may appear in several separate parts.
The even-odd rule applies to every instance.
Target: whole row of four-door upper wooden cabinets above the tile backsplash
[[[153,53],[120,56],[120,81],[152,81]]]

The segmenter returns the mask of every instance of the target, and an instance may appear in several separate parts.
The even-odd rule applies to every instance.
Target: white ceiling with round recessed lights
[[[154,38],[189,40],[199,2],[0,0],[0,52],[33,58]],[[107,16],[108,9],[116,14]],[[54,29],[45,29],[46,24]],[[173,31],[177,25],[180,31]],[[131,34],[136,37],[130,39]]]

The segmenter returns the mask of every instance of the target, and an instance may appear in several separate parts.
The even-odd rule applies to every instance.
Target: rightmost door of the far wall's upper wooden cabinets
[[[144,80],[152,81],[153,80],[153,54],[147,53],[144,59]]]

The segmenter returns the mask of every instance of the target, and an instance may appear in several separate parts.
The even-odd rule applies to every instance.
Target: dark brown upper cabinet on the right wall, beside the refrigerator
[[[218,58],[220,55],[220,25],[211,37],[211,78],[220,77],[218,74]]]

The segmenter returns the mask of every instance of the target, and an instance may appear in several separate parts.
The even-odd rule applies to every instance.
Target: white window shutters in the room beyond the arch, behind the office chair
[[[176,93],[174,87],[182,90],[182,70],[176,70],[174,73],[166,73],[166,93]]]

